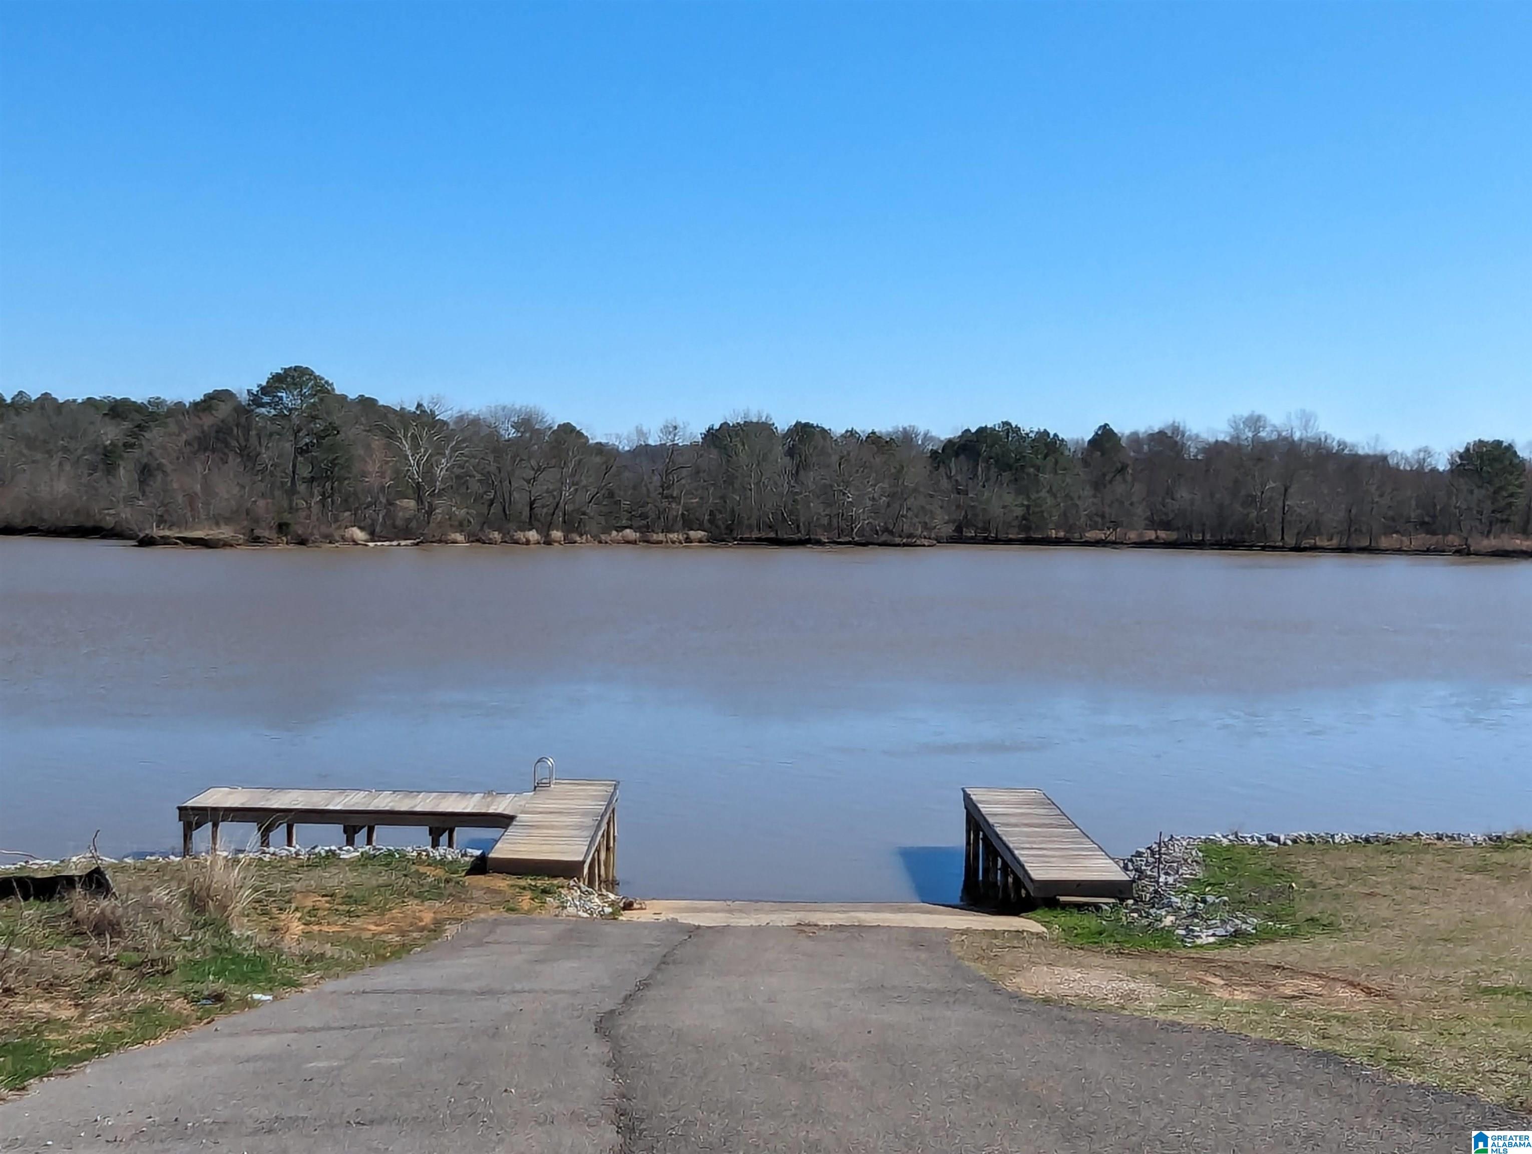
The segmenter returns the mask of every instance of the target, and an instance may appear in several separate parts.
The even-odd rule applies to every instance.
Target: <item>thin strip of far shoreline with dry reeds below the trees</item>
[[[135,533],[115,526],[0,526],[0,536],[58,538],[75,541],[123,541],[141,547],[161,549],[408,549],[415,546],[487,546],[487,547],[533,547],[533,546],[651,546],[651,547],[754,547],[754,549],[938,549],[942,546],[984,546],[997,549],[1025,547],[1085,547],[1085,549],[1144,549],[1192,553],[1279,553],[1279,555],[1360,555],[1360,556],[1486,556],[1509,559],[1532,559],[1532,539],[1518,536],[1498,538],[1414,538],[1390,539],[1373,544],[1342,544],[1336,541],[1304,541],[1281,546],[1272,543],[1242,541],[1184,541],[1169,533],[1129,533],[1124,538],[1091,533],[1085,536],[1026,536],[1026,538],[887,538],[887,539],[833,539],[833,538],[783,538],[741,536],[711,538],[705,533],[605,533],[602,536],[561,535],[544,538],[539,533],[510,533],[469,538],[463,533],[446,533],[435,538],[395,538],[374,541],[366,535],[346,538],[309,538],[303,535],[277,536],[274,533],[244,535],[224,529],[184,529],[158,533]]]

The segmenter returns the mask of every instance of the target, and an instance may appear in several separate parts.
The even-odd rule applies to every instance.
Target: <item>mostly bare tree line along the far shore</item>
[[[1011,421],[939,438],[746,414],[593,440],[530,406],[389,406],[290,366],[195,402],[0,395],[0,526],[1532,552],[1532,461],[1509,440],[1382,452],[1307,414],[1236,417],[1216,435],[1103,425],[1083,440]]]

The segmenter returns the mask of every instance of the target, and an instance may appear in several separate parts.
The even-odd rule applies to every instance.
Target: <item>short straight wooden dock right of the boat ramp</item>
[[[964,789],[964,897],[1025,907],[1124,901],[1132,881],[1042,789]]]

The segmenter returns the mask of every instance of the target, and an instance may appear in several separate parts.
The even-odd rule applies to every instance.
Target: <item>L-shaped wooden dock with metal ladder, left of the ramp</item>
[[[617,783],[535,780],[530,792],[430,792],[414,789],[205,789],[178,806],[182,852],[210,826],[211,849],[221,828],[250,823],[262,847],[285,828],[297,844],[297,826],[340,826],[346,844],[377,844],[378,826],[430,831],[430,844],[457,846],[458,829],[502,829],[486,855],[493,874],[579,878],[611,887],[617,880]]]

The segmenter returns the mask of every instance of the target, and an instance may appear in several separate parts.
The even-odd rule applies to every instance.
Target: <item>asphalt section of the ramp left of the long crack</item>
[[[469,923],[435,949],[44,1082],[0,1105],[0,1151],[616,1151],[596,1019],[685,935]]]

